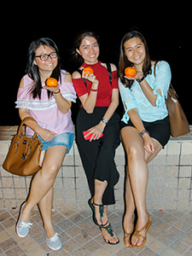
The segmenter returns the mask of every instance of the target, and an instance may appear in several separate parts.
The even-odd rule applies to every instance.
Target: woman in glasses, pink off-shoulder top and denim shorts
[[[49,77],[58,80],[57,87],[45,85]],[[38,133],[43,143],[44,160],[42,169],[32,179],[27,201],[20,207],[16,232],[20,237],[27,236],[32,227],[32,208],[38,204],[47,245],[53,250],[61,248],[61,240],[51,221],[53,186],[62,161],[73,145],[70,108],[75,101],[71,75],[61,70],[55,43],[49,38],[33,41],[28,50],[26,75],[20,81],[16,108],[19,108],[20,119],[32,117],[37,121],[26,122],[26,134]]]

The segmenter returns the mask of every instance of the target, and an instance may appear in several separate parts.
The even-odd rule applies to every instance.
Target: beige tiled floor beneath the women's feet
[[[109,213],[113,230],[120,239],[116,246],[103,241],[100,230],[92,222],[90,211],[53,212],[55,230],[60,233],[62,241],[61,250],[54,252],[46,245],[38,210],[32,212],[30,235],[21,239],[15,234],[18,209],[0,209],[0,256],[192,255],[192,212],[150,212],[154,222],[142,249],[124,246],[123,212]]]

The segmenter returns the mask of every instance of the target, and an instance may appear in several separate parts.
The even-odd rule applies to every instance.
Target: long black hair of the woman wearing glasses
[[[41,84],[41,78],[39,74],[39,68],[37,65],[34,64],[35,61],[35,55],[36,50],[39,46],[46,45],[51,48],[53,48],[58,57],[58,63],[55,69],[53,70],[51,77],[55,78],[57,80],[61,80],[61,61],[59,56],[59,50],[53,40],[50,38],[39,38],[37,40],[32,41],[32,44],[30,44],[28,49],[28,62],[26,65],[26,73],[34,81],[33,87],[32,87],[32,97],[35,99],[38,97],[41,99],[41,90],[42,90],[42,84]],[[52,93],[48,90],[48,97],[51,96]]]

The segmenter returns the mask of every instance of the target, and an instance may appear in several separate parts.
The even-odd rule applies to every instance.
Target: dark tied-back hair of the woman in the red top
[[[84,38],[95,38],[97,44],[99,44],[99,37],[96,35],[95,32],[89,32],[89,31],[85,31],[85,32],[79,32],[79,34],[74,38],[74,43],[73,43],[73,60],[74,61],[78,61],[79,66],[81,66],[84,62],[84,59],[82,58],[81,55],[79,55],[79,53],[77,52],[76,49],[80,48],[80,45],[82,44],[82,41],[84,40]]]

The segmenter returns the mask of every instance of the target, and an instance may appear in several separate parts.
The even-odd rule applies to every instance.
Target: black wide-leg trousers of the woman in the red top
[[[103,137],[96,141],[84,140],[83,131],[98,125],[108,108],[96,107],[94,113],[86,113],[84,108],[80,108],[76,120],[76,143],[84,166],[84,172],[90,188],[90,195],[95,193],[95,179],[107,181],[108,187],[105,190],[102,203],[112,205],[114,200],[114,185],[119,181],[114,155],[115,149],[119,146],[119,115],[113,113],[108,121]]]

